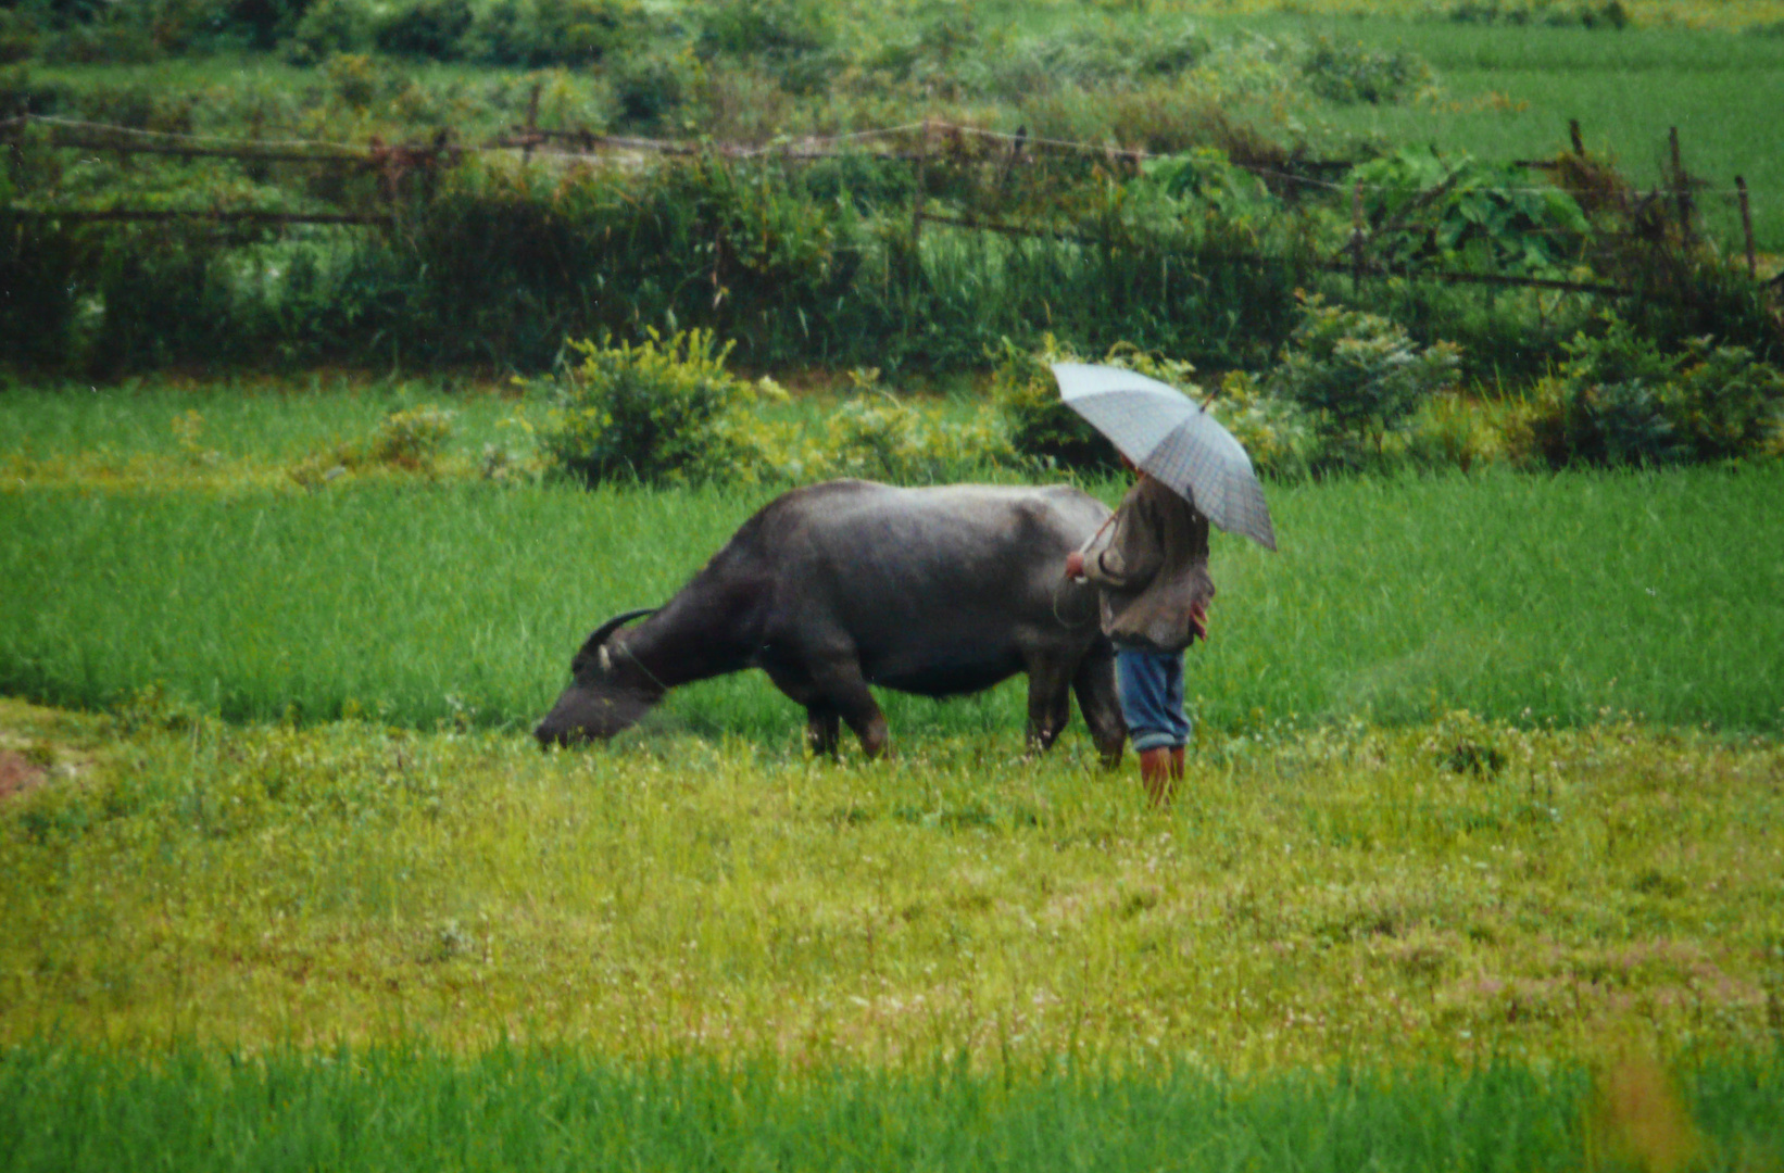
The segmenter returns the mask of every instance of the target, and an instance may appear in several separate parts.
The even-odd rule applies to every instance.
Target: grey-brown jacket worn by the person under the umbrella
[[[1208,519],[1142,472],[1085,551],[1085,578],[1103,588],[1103,631],[1111,640],[1183,651],[1193,638],[1192,610],[1215,597]]]

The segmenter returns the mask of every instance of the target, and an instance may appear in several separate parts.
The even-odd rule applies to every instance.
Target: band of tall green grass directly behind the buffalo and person
[[[1113,499],[1119,485],[1101,492]],[[159,685],[230,718],[521,727],[601,619],[665,601],[765,490],[483,483],[0,496],[0,690],[114,706]],[[1784,469],[1276,487],[1281,553],[1217,537],[1208,733],[1466,708],[1784,727]],[[894,727],[1020,726],[1020,685],[888,699]],[[658,724],[780,740],[760,674]]]

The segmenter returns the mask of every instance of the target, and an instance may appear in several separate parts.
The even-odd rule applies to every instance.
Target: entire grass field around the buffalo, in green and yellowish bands
[[[1272,487],[1154,811],[1013,685],[541,754],[769,490],[485,480],[516,410],[0,398],[0,1166],[1784,1164],[1777,465]]]

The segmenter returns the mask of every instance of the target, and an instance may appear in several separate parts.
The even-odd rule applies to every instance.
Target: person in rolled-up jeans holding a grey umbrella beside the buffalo
[[[1065,574],[1101,590],[1103,631],[1115,644],[1127,733],[1147,799],[1170,800],[1183,777],[1190,720],[1183,652],[1208,638],[1208,524],[1276,549],[1251,456],[1208,410],[1176,387],[1122,367],[1053,365],[1065,403],[1106,435],[1135,485]]]

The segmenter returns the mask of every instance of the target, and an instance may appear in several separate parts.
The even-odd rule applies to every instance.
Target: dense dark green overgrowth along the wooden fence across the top
[[[0,332],[23,371],[537,373],[566,339],[701,326],[758,371],[983,373],[1004,339],[1033,349],[1051,333],[1081,353],[1127,342],[1263,376],[1297,328],[1302,291],[1383,314],[1420,346],[1458,344],[1465,385],[1495,396],[1616,321],[1654,339],[1663,360],[1704,337],[1779,357],[1777,312],[1745,271],[1727,175],[1754,180],[1770,242],[1784,209],[1773,212],[1757,168],[1777,153],[1748,123],[1706,116],[1686,123],[1689,173],[1634,166],[1682,121],[1664,102],[1702,96],[1720,77],[1711,66],[1743,71],[1722,109],[1761,100],[1777,43],[1643,29],[1668,18],[1664,5],[1458,5],[1418,25],[1192,20],[1170,5],[833,14],[792,0],[200,4],[157,7],[153,20],[150,7],[18,9],[11,20],[30,29],[7,102],[186,135],[136,144],[221,137],[273,153],[120,159],[105,148],[132,141],[14,127],[7,283],[30,296],[7,303]],[[1747,23],[1759,29],[1759,12]],[[105,64],[134,59],[130,36],[152,43],[134,55],[146,64]],[[1445,77],[1516,66],[1532,94],[1550,77],[1652,73],[1661,105],[1645,127],[1618,112],[1615,134],[1597,127],[1616,103],[1572,112],[1586,125],[1582,152],[1566,143],[1568,114],[1513,143],[1493,111],[1516,121],[1529,98],[1465,96]],[[919,119],[994,137],[926,135]],[[599,168],[478,150],[521,123],[712,148]],[[904,130],[833,137],[890,127]],[[1436,157],[1429,127],[1443,128]],[[373,135],[416,146],[368,153]],[[351,157],[287,157],[314,139]],[[1408,139],[1418,150],[1397,150]],[[739,144],[767,153],[740,157]],[[819,157],[787,157],[789,146]],[[1368,193],[1370,266],[1408,276],[1347,276],[1354,182]],[[339,212],[389,226],[45,216],[105,207]],[[974,226],[985,221],[1020,232]],[[1566,287],[1434,276],[1454,271]],[[1593,446],[1550,449],[1572,458]]]

